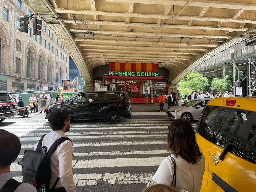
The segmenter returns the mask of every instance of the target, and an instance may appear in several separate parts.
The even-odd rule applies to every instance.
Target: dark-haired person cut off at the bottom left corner
[[[12,179],[10,166],[18,157],[20,149],[19,138],[4,129],[0,129],[0,192],[37,192],[34,186]]]

